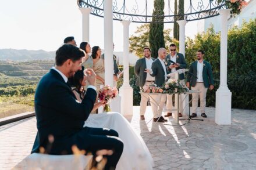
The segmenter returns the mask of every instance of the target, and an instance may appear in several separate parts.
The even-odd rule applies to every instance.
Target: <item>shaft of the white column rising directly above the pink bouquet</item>
[[[105,85],[113,86],[113,12],[112,0],[104,1]]]

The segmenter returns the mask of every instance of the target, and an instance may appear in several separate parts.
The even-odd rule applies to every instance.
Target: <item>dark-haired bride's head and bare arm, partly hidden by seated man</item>
[[[79,102],[82,102],[84,99],[84,95],[86,95],[86,91],[84,90],[84,86],[86,86],[87,75],[84,74],[84,66],[82,66],[82,70],[76,71],[73,77],[69,78],[69,82],[71,86],[74,86],[72,92],[76,99]],[[104,106],[104,102],[96,102],[94,103],[93,111],[97,110],[98,107]]]

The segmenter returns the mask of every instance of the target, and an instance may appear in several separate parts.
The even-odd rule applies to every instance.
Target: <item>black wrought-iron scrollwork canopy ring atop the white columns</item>
[[[225,2],[218,0],[184,0],[184,15],[174,14],[175,0],[165,0],[163,23],[174,23],[184,18],[187,21],[206,19],[219,15],[219,9],[225,8]],[[91,14],[104,17],[104,0],[78,0],[80,8],[91,8]],[[154,0],[113,0],[113,19],[130,20],[134,23],[152,23]],[[161,22],[159,16],[155,23]]]

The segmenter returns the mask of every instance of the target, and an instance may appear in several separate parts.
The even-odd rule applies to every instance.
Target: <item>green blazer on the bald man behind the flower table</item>
[[[157,86],[162,86],[165,83],[165,70],[163,70],[163,66],[159,60],[159,58],[155,59],[152,63],[152,77],[155,77],[155,84]],[[166,73],[169,74],[168,69],[165,67]]]

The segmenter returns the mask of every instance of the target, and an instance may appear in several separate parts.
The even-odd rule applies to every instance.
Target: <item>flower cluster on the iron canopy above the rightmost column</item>
[[[244,6],[247,5],[245,0],[218,0],[218,3],[226,2],[226,7],[230,9],[233,15],[239,15]]]

